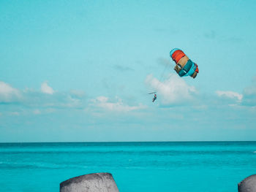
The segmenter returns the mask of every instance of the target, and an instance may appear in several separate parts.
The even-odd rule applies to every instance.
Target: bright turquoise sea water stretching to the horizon
[[[92,172],[121,192],[238,191],[256,174],[256,142],[0,143],[0,191],[59,191]]]

